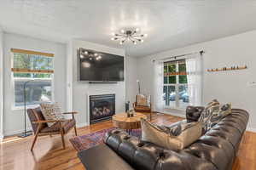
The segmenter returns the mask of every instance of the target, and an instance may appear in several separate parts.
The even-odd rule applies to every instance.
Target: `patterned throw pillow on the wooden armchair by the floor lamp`
[[[42,114],[45,120],[61,120],[64,119],[63,114],[61,113],[61,108],[58,103],[44,103],[40,104]],[[47,123],[49,127],[51,127],[54,122]]]

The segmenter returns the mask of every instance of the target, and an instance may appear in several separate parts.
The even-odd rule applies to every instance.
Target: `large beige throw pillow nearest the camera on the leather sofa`
[[[201,123],[177,122],[171,127],[158,127],[141,119],[142,140],[170,150],[183,150],[201,137]]]

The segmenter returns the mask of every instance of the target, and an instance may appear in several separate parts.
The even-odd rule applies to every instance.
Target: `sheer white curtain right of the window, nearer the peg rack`
[[[191,54],[186,59],[188,72],[189,105],[201,105],[202,103],[202,56]]]

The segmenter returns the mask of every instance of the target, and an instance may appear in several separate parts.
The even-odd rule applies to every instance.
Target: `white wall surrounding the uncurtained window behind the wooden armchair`
[[[59,102],[63,111],[66,110],[66,60],[67,47],[65,44],[48,42],[32,37],[4,33],[4,114],[3,127],[4,135],[23,132],[23,110],[13,110],[14,93],[11,87],[11,54],[10,48],[21,48],[39,52],[55,54],[55,77],[54,93],[55,101]],[[27,127],[30,127],[27,119]]]

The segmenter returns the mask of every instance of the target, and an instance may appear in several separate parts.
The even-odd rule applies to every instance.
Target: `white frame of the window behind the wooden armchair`
[[[11,68],[14,68],[14,54],[15,52],[10,52],[11,55]],[[48,56],[45,56],[48,57]],[[14,76],[14,71],[11,71],[11,69],[9,69],[9,71],[11,72],[11,96],[12,96],[12,111],[19,111],[19,110],[23,110],[24,109],[24,105],[20,105],[20,106],[16,106],[15,105],[15,82],[16,81],[29,81],[29,80],[34,80],[34,82],[49,82],[51,83],[51,101],[55,102],[55,58],[53,57],[53,73],[51,73],[51,77],[50,78],[33,78],[33,77],[15,77]],[[40,73],[38,73],[40,74]],[[26,109],[32,109],[37,107],[38,105],[26,105]]]

